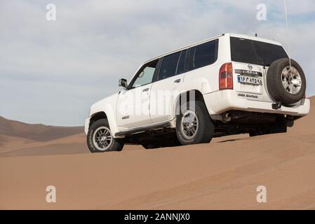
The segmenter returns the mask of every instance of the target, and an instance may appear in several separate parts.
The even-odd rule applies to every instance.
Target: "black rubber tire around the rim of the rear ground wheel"
[[[215,126],[211,120],[206,105],[203,102],[196,101],[194,104],[188,102],[183,105],[180,110],[180,115],[176,116],[176,134],[177,139],[182,145],[189,144],[201,144],[209,143],[213,138]],[[182,131],[182,118],[183,115],[189,110],[194,111],[196,118],[198,118],[198,128],[196,128],[196,134],[192,139],[188,139],[187,136]],[[187,112],[188,113],[188,112]]]

